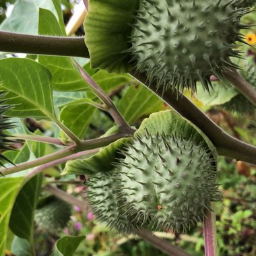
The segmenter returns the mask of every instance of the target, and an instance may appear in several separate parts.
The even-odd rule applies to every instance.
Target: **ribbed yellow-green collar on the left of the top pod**
[[[86,16],[86,46],[89,49],[92,68],[113,73],[127,73],[129,63],[129,36],[133,15],[139,0],[91,0]]]

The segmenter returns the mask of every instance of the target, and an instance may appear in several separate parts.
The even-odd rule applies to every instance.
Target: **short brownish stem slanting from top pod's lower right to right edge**
[[[256,106],[256,90],[247,82],[247,80],[238,73],[236,69],[227,70],[224,76],[228,81],[247,98],[252,104]]]

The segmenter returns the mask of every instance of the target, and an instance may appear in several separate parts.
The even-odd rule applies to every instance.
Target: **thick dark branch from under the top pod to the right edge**
[[[169,88],[166,92],[162,87],[157,87],[156,83],[149,84],[146,75],[130,72],[130,74],[142,82],[167,104],[169,104],[180,115],[191,121],[212,141],[218,154],[243,162],[256,164],[256,147],[243,141],[239,141],[225,133],[218,125],[208,118],[197,106],[195,106],[183,94],[178,94],[176,90]]]

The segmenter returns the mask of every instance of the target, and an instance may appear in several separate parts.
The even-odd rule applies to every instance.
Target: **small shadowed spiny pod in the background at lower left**
[[[50,234],[57,234],[65,228],[71,216],[71,207],[65,201],[50,197],[47,203],[36,209],[34,220],[38,230]]]

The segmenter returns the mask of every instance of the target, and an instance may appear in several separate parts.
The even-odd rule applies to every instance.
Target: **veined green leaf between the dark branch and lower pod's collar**
[[[162,110],[163,101],[146,86],[129,86],[117,104],[124,119],[132,124],[139,117]]]

